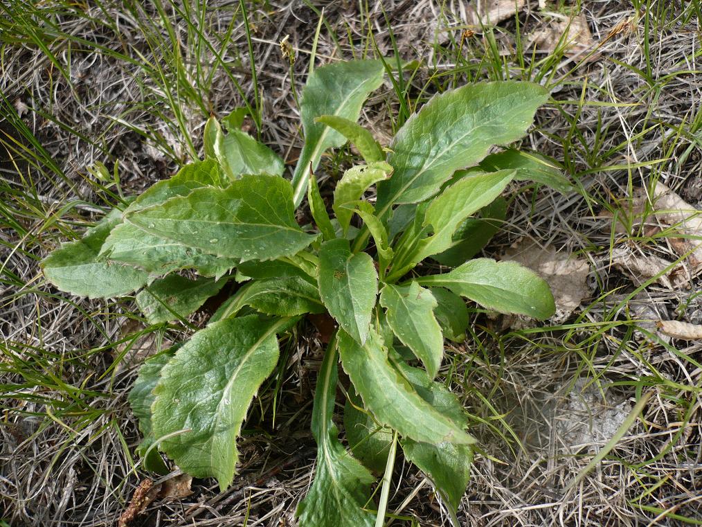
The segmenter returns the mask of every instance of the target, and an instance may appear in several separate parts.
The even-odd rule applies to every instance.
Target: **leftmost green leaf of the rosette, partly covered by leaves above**
[[[98,254],[110,230],[119,223],[115,209],[75,242],[62,243],[41,262],[46,280],[61,291],[88,298],[120,297],[149,280],[141,269],[100,261]]]

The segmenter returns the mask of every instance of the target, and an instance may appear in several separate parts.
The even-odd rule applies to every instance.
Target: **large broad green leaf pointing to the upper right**
[[[378,184],[378,214],[437,193],[454,171],[477,164],[493,145],[524,136],[548,90],[529,82],[469,84],[433,97],[390,144],[395,173]]]

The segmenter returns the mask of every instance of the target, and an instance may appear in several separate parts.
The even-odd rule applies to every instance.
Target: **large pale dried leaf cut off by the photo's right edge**
[[[685,238],[668,237],[670,247],[678,254],[688,254],[693,271],[702,271],[702,211],[697,210],[663,183],[654,189],[656,218],[668,226],[675,226]]]

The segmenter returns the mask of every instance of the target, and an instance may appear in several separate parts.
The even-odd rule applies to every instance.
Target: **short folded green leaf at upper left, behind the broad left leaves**
[[[229,181],[242,174],[283,175],[285,165],[279,155],[245,131],[230,128],[224,134],[217,119],[210,117],[204,137],[205,155],[218,160]]]

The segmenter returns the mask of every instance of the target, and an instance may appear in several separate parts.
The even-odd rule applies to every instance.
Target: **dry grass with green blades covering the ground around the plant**
[[[467,526],[682,525],[702,519],[702,367],[697,362],[702,346],[643,334],[625,308],[639,302],[669,317],[700,323],[702,301],[694,296],[700,282],[694,280],[688,290],[637,288],[609,266],[612,247],[636,245],[670,261],[677,256],[665,238],[613,237],[610,223],[597,217],[605,205],[615,206],[633,188],[658,179],[692,204],[698,206],[702,199],[699,20],[676,20],[682,11],[674,6],[665,13],[667,20],[658,20],[656,13],[675,2],[651,4],[648,15],[637,16],[629,2],[583,1],[596,40],[630,17],[636,20],[633,31],[609,39],[595,60],[578,67],[554,60],[552,71],[544,72],[562,79],[553,93],[560,103],[539,113],[538,126],[525,145],[564,161],[583,194],[520,188],[508,230],[487,252],[501,254],[519,238],[581,252],[591,263],[595,289],[570,325],[543,331],[505,334],[498,322],[476,314],[473,338],[449,353],[443,373],[475,415],[472,433],[484,449],[459,513]],[[8,5],[15,16],[23,9],[20,2]],[[12,32],[0,37],[0,91],[5,98],[1,129],[20,141],[8,105],[20,110],[26,105],[22,121],[46,150],[46,155],[37,154],[39,169],[30,162],[0,158],[5,212],[0,226],[0,518],[12,527],[115,525],[145,476],[133,469],[130,454],[138,433],[126,392],[135,367],[117,367],[142,337],[141,332],[124,330],[126,321],[138,315],[129,302],[67,301],[42,281],[37,266],[71,228],[94,221],[101,207],[114,203],[114,188],[100,188],[86,167],[96,161],[112,167],[119,160],[124,192],[136,193],[197,155],[208,112],[224,115],[241,105],[232,77],[246,96],[253,93],[238,2],[208,4],[206,39],[213,46],[231,27],[222,53],[228,74],[222,67],[210,68],[216,63],[211,51],[193,55],[187,25],[168,11],[169,19],[176,20],[187,82],[207,88],[195,94],[170,93],[170,100],[164,90],[183,80],[178,70],[169,69],[172,49],[154,48],[145,36],[145,27],[158,29],[144,22],[157,17],[156,4],[129,4],[133,11],[127,5],[113,1],[102,8],[86,6],[81,16],[67,6],[56,7],[51,19],[63,34],[104,46],[96,50],[46,37],[56,63],[31,42],[8,44]],[[531,7],[520,18],[525,31],[545,20],[536,5]],[[293,80],[299,93],[317,15],[298,2],[270,1],[249,11],[263,101],[262,140],[294,162],[300,148],[297,104],[278,43],[289,34],[298,53]],[[329,3],[324,15],[328,26],[322,30],[318,57],[325,62],[372,52],[369,30],[380,53],[390,56],[389,22],[400,56],[423,63],[408,86],[409,100],[428,96],[454,77],[460,84],[466,75],[494,77],[508,67],[512,74],[518,71],[510,56],[503,64],[491,58],[482,62],[480,34],[464,44],[459,57],[468,16],[462,2],[389,1],[362,11],[358,4]],[[515,30],[513,20],[501,25],[498,49],[516,46]],[[168,43],[165,28],[159,31]],[[134,62],[121,60],[124,56]],[[525,60],[529,64],[541,58]],[[542,60],[535,71],[543,72],[546,63]],[[58,65],[69,74],[64,76]],[[387,83],[371,98],[362,119],[383,137],[392,133],[401,112]],[[326,162],[333,167],[345,158]],[[618,308],[620,303],[625,305]],[[246,426],[250,433],[241,441],[241,475],[234,486],[219,493],[213,481],[196,481],[190,497],[154,502],[145,525],[296,524],[293,513],[310,484],[314,461],[307,424],[322,351],[309,336],[313,334],[303,332],[299,344],[287,349],[277,400],[271,394],[252,409]],[[176,339],[178,332],[159,330],[152,336],[152,346],[158,348],[161,339]],[[583,391],[580,378],[590,379],[595,392],[602,389],[609,408],[631,408],[640,396],[637,389],[654,396],[642,419],[606,459],[567,490],[606,442],[574,445],[566,437],[562,423],[572,418],[573,387]],[[595,401],[592,389],[588,393],[588,401]],[[274,422],[272,412],[263,412],[272,404],[277,405]],[[588,422],[589,417],[581,420]],[[430,484],[416,469],[398,463],[394,481],[391,511],[425,526],[449,525]]]

